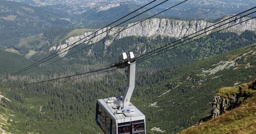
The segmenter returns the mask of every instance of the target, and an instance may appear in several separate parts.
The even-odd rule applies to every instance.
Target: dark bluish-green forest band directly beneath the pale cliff
[[[122,52],[133,51],[135,56],[140,56],[143,53],[156,50],[159,47],[175,42],[176,40],[177,38],[161,36],[130,36],[114,40],[108,47],[103,45],[104,41],[98,42],[86,49],[84,48],[87,44],[82,44],[70,50],[67,55],[79,51],[67,57],[67,59],[70,64],[79,61],[79,63],[83,65],[107,65],[115,62],[115,57]],[[248,46],[255,42],[256,33],[254,31],[246,30],[241,34],[234,32],[216,33],[163,53],[157,57],[147,59],[146,61],[141,62],[139,66],[150,69],[177,67],[217,54],[222,54],[226,51]],[[92,51],[92,54],[88,54],[90,51]]]

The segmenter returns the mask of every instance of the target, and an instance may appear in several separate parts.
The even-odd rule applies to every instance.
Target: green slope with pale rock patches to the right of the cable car
[[[220,61],[232,61],[250,51],[251,53],[239,60],[236,67],[220,70],[212,75],[204,74],[202,71],[216,67]],[[136,88],[136,91],[142,90],[150,94],[138,97],[133,104],[146,115],[148,129],[160,127],[161,130],[167,130],[166,133],[184,130],[211,113],[212,98],[220,88],[255,79],[253,51],[256,51],[255,45],[210,57],[180,67],[179,70],[174,68],[168,68],[167,72],[163,70],[159,72],[159,74],[163,73],[163,76],[155,75],[159,79],[158,83]],[[251,67],[247,67],[248,62]],[[166,85],[170,83],[172,89],[168,90]],[[163,95],[164,92],[167,93]],[[157,102],[157,105],[150,107],[149,104],[154,102]]]

